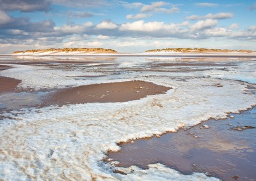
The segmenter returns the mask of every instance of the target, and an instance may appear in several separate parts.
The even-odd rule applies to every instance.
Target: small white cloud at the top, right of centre
[[[165,3],[163,1],[154,2],[150,5],[143,5],[141,8],[141,12],[157,12],[157,13],[178,13],[179,8],[162,8],[163,6],[168,6],[169,3]]]

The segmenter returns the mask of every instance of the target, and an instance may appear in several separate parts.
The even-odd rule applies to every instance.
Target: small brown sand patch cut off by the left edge
[[[4,76],[0,76],[0,94],[3,92],[14,92],[15,87],[21,82],[21,80],[17,80],[14,78],[8,78]]]

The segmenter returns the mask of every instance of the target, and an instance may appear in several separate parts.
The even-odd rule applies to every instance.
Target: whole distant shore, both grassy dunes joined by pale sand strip
[[[120,53],[113,49],[104,48],[50,48],[45,50],[26,50],[13,52],[11,55],[28,56],[172,56],[172,57],[252,57],[256,51],[252,50],[221,50],[207,48],[165,48],[147,50],[141,53]]]

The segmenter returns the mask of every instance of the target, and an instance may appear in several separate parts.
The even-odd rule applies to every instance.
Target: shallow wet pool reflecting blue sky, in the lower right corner
[[[234,116],[234,117],[233,117]],[[249,127],[236,131],[234,127]],[[203,172],[223,180],[256,180],[256,108],[225,120],[208,120],[177,133],[122,143],[108,159],[147,169],[161,163],[185,175]]]

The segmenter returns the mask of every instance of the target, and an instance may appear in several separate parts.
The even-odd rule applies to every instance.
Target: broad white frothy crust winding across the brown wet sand
[[[63,71],[17,65],[0,75],[22,80],[20,87],[62,88],[100,83],[100,80],[74,80],[69,75],[98,75],[74,69]],[[0,122],[0,178],[6,180],[218,180],[203,173],[181,175],[162,164],[148,170],[136,166],[119,168],[102,161],[116,143],[177,131],[210,118],[251,108],[256,103],[247,83],[216,78],[187,77],[186,81],[161,74],[144,77],[137,73],[123,79],[101,82],[143,80],[172,87],[166,94],[148,96],[124,103],[88,103],[67,106],[27,108],[4,113]],[[166,73],[168,75],[168,73]],[[216,85],[223,85],[218,87]]]

